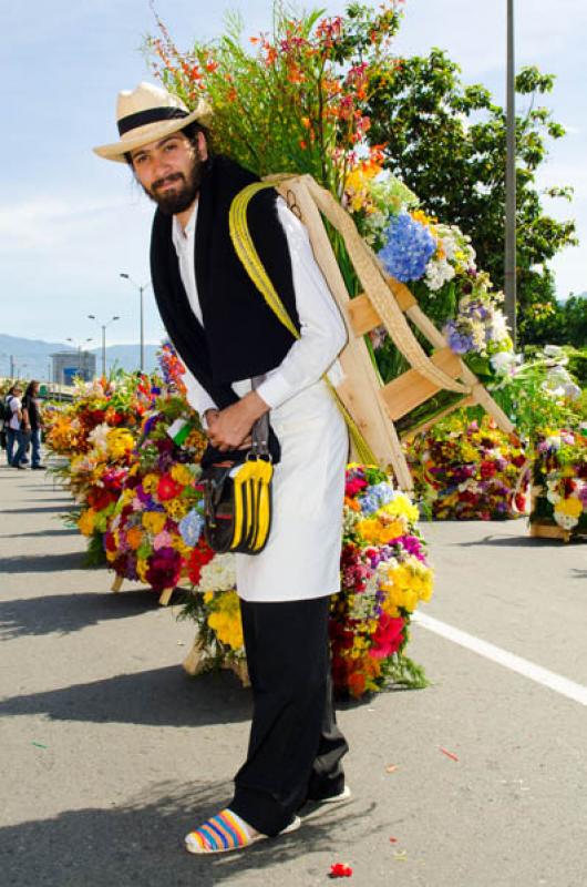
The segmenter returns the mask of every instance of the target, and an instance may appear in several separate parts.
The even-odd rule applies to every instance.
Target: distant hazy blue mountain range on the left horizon
[[[156,353],[158,345],[145,344],[145,370],[150,373],[157,365]],[[102,369],[102,349],[87,348],[96,356],[96,370]],[[18,336],[0,334],[0,377],[19,377],[21,379],[39,379],[45,381],[50,378],[51,355],[55,351],[78,353],[71,344],[63,341],[43,341],[42,339],[25,339]],[[138,344],[111,345],[106,348],[106,373],[114,367],[126,370],[138,369],[141,363]]]

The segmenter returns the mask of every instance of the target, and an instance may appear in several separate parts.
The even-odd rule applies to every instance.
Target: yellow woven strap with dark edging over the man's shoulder
[[[288,176],[284,176],[284,179],[287,177]],[[230,205],[228,225],[233,246],[235,247],[235,252],[243,263],[245,271],[280,323],[284,324],[284,326],[291,333],[294,338],[299,339],[300,334],[298,333],[296,325],[291,320],[291,317],[289,316],[284,303],[279,298],[265,269],[255,244],[253,243],[253,237],[250,236],[250,231],[247,223],[247,208],[253,197],[258,194],[259,191],[264,191],[268,187],[275,187],[280,181],[281,179],[274,179],[271,182],[254,182],[251,185],[247,185],[247,187],[243,188],[243,191],[236,195]],[[347,422],[359,459],[367,465],[377,465],[377,458],[373,455],[371,447],[364,439],[361,429],[342,402],[337,389],[326,374],[322,378],[332,392],[336,404],[343,416],[344,421]]]

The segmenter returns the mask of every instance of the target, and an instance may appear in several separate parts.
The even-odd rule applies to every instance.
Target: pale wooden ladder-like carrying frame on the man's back
[[[477,377],[449,347],[446,339],[419,307],[408,287],[387,277],[378,259],[359,235],[346,210],[310,175],[276,179],[276,186],[289,207],[305,223],[329,288],[344,317],[349,341],[340,354],[344,371],[337,391],[378,462],[391,467],[399,487],[413,490],[413,481],[394,422],[441,390],[461,398],[430,421],[410,429],[404,438],[428,430],[454,409],[482,406],[504,431],[514,426]],[[341,234],[363,293],[351,298],[328,237],[322,216]],[[411,322],[433,346],[429,357],[414,336]],[[411,369],[382,386],[364,336],[383,326]]]

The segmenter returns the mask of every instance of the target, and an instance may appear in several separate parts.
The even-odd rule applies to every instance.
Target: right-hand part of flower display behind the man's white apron
[[[359,697],[392,682],[425,683],[404,654],[411,614],[430,600],[433,587],[418,517],[418,508],[384,471],[348,467],[341,592],[333,597],[330,614],[339,694]]]

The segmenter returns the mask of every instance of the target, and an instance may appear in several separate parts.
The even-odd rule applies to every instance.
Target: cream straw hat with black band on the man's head
[[[204,99],[189,112],[176,95],[152,83],[140,83],[135,90],[119,93],[116,120],[121,141],[99,145],[94,152],[100,157],[124,163],[128,151],[165,139],[196,120],[206,125],[210,118],[212,108]]]

